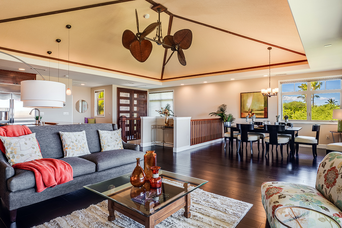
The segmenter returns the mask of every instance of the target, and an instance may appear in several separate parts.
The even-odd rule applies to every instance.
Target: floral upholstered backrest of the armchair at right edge
[[[342,210],[342,153],[331,152],[321,161],[316,189]]]

